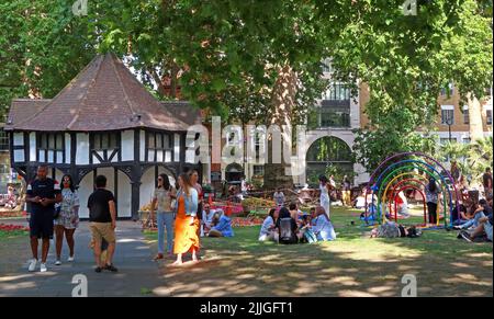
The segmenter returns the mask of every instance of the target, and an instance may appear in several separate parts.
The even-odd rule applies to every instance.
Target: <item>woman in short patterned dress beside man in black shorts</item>
[[[79,225],[79,194],[74,185],[72,176],[65,174],[61,178],[61,202],[59,203],[59,215],[54,220],[55,225],[55,250],[57,254],[56,265],[60,265],[61,246],[64,235],[69,247],[69,258],[74,261],[74,232]],[[58,209],[58,208],[57,208]]]

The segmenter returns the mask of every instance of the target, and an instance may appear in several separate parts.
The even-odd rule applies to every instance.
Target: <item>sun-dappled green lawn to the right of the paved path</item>
[[[162,263],[167,288],[159,294],[400,296],[402,276],[414,274],[419,296],[493,295],[491,243],[468,243],[446,230],[427,230],[415,239],[370,239],[358,216],[357,210],[332,210],[334,242],[260,243],[259,227],[235,228],[234,238],[204,238],[201,263],[178,269],[168,266],[171,259]],[[156,233],[147,236],[156,244]]]

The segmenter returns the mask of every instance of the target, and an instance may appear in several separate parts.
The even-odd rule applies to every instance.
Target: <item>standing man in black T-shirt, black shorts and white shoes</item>
[[[31,204],[30,237],[33,259],[29,271],[34,272],[37,264],[37,246],[40,238],[42,243],[42,262],[40,271],[46,272],[46,258],[48,257],[49,239],[53,238],[53,219],[55,203],[61,202],[60,184],[47,178],[48,167],[37,168],[37,178],[27,185],[25,201]]]

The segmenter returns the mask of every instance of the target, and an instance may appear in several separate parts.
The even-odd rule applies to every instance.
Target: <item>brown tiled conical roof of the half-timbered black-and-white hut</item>
[[[148,127],[187,130],[189,125],[165,105],[109,53],[97,56],[43,107],[33,107],[31,116],[10,118],[5,129],[93,132]]]

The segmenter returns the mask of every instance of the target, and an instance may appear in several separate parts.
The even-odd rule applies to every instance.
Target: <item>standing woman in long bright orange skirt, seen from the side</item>
[[[192,253],[192,261],[198,261],[199,251],[199,219],[198,191],[192,186],[190,176],[187,173],[178,178],[180,190],[177,193],[177,218],[175,220],[175,243],[173,252],[177,254],[177,261],[173,265],[182,264],[182,255],[187,252]]]

